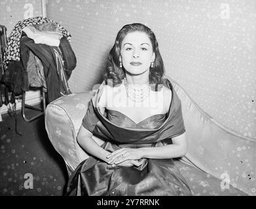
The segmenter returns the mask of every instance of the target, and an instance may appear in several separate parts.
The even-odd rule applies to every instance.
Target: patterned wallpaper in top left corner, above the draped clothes
[[[23,19],[42,16],[41,0],[1,0],[0,25],[7,27],[7,37]]]

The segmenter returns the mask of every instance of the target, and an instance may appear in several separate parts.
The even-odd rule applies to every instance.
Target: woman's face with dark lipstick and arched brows
[[[119,61],[126,71],[131,74],[142,74],[149,70],[154,60],[155,53],[147,33],[134,31],[124,37]]]

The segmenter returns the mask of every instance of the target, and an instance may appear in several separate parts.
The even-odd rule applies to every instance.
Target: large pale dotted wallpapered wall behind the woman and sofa
[[[124,24],[153,29],[166,74],[226,127],[256,138],[256,1],[55,0],[48,18],[67,28],[77,56],[74,92],[101,81]]]

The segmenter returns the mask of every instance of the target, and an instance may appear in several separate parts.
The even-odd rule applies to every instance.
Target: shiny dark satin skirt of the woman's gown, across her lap
[[[123,144],[105,142],[109,152],[129,147],[154,144]],[[175,167],[172,159],[141,159],[139,167],[111,165],[89,157],[71,174],[67,184],[69,196],[181,196],[192,195],[187,182]]]

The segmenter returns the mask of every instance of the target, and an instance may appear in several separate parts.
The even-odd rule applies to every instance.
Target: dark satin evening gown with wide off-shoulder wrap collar
[[[169,112],[153,115],[139,123],[116,110],[105,109],[101,114],[97,107],[100,88],[90,102],[82,125],[105,139],[101,147],[109,152],[170,144],[172,137],[185,132],[185,127],[179,98],[168,80],[166,86],[173,92]],[[192,195],[172,159],[143,158],[140,161],[139,167],[111,167],[90,156],[71,174],[65,195]]]

